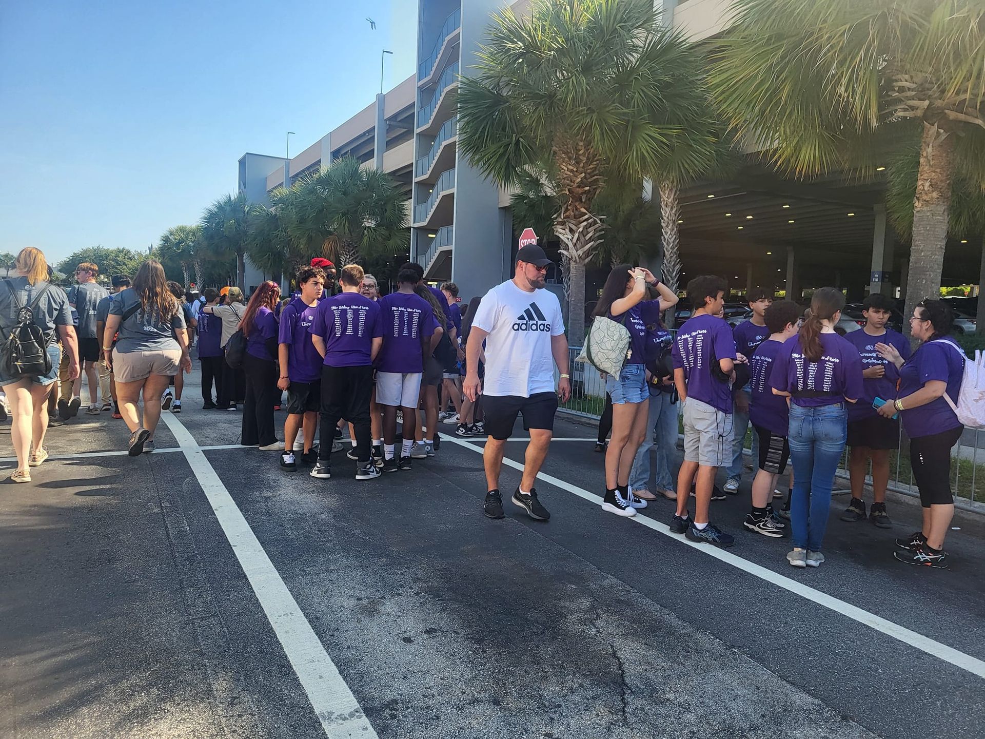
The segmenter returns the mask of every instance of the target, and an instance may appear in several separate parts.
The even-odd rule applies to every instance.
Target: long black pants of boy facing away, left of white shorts
[[[318,459],[327,462],[339,419],[353,425],[356,453],[361,464],[369,461],[371,432],[369,398],[372,396],[371,367],[321,368],[321,436]]]

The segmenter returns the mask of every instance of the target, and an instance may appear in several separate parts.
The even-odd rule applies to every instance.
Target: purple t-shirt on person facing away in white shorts
[[[429,340],[438,327],[430,303],[414,293],[390,293],[379,299],[383,348],[376,356],[381,372],[423,372],[421,337]]]

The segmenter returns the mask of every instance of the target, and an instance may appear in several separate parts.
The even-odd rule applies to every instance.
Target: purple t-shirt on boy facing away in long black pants
[[[372,340],[383,335],[379,305],[359,293],[339,293],[318,303],[311,333],[325,339],[332,367],[371,365]]]

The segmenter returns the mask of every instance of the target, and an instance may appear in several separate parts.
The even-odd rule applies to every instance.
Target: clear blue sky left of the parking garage
[[[372,18],[376,30],[364,20]],[[0,251],[146,249],[414,72],[417,0],[0,3]]]

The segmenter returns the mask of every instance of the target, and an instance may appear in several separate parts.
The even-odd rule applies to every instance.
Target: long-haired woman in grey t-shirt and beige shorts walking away
[[[116,375],[120,413],[130,429],[130,456],[151,451],[161,421],[161,393],[174,374],[191,371],[184,313],[167,289],[161,262],[144,262],[133,278],[133,287],[109,303],[101,342]],[[143,421],[137,408],[142,392]]]

